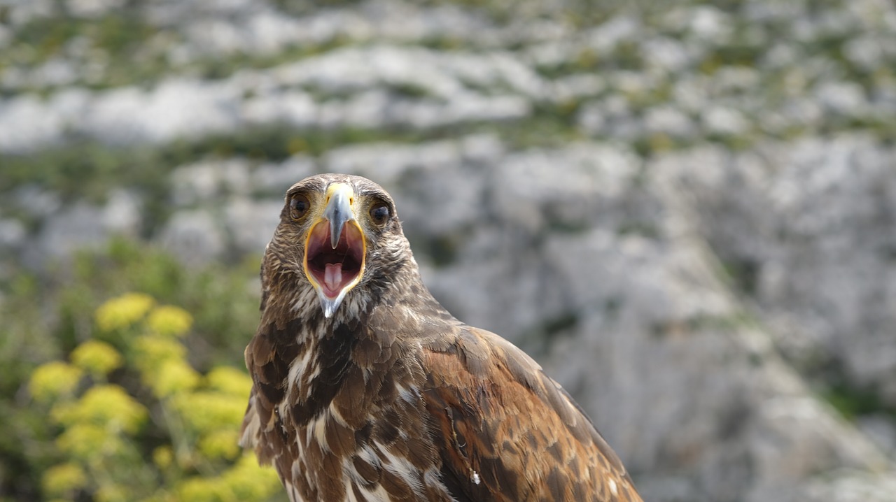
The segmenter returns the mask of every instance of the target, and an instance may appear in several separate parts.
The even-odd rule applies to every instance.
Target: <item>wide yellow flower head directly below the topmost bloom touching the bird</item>
[[[237,429],[246,411],[243,399],[218,392],[178,394],[174,396],[172,404],[184,417],[186,425],[200,433],[225,428]]]

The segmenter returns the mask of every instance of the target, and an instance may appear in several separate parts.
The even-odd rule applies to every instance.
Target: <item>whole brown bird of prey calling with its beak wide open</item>
[[[642,500],[563,387],[429,293],[378,184],[290,187],[261,282],[240,445],[292,502]]]

